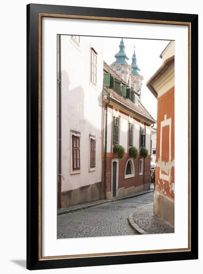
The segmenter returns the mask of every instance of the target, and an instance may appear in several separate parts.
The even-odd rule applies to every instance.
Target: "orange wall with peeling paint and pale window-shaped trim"
[[[167,119],[171,118],[171,162],[174,162],[174,88],[170,89],[162,97],[158,99],[157,105],[157,149],[156,149],[156,174],[155,188],[156,191],[162,193],[170,199],[174,200],[174,166],[171,167],[171,176],[169,181],[160,178],[160,132],[161,122],[164,121],[164,116]],[[169,126],[162,128],[162,164],[169,162]],[[171,165],[173,165],[171,163]],[[162,174],[170,174],[164,172]]]

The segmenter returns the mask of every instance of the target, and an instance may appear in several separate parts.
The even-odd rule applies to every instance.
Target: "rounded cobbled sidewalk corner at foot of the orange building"
[[[134,222],[147,234],[174,233],[174,227],[153,215],[153,203],[135,210]]]

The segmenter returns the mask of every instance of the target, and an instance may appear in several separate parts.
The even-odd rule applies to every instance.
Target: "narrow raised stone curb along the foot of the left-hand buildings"
[[[150,193],[150,192],[153,192],[153,191],[154,191],[154,189],[150,189],[150,190],[147,190],[147,191],[137,192],[137,193],[135,193],[134,195],[131,195],[131,196],[119,197],[119,198],[116,198],[116,199],[105,200],[105,201],[102,201],[102,202],[98,201],[94,204],[81,206],[81,207],[78,207],[78,208],[67,209],[67,210],[58,212],[57,215],[60,216],[60,215],[64,215],[64,214],[74,213],[74,212],[77,212],[77,211],[80,211],[80,210],[83,210],[83,209],[86,209],[86,208],[90,208],[90,207],[93,207],[93,206],[98,206],[98,205],[102,205],[102,204],[105,204],[105,203],[116,202],[116,201],[119,201],[119,200],[133,198],[133,197],[144,195],[146,193]]]

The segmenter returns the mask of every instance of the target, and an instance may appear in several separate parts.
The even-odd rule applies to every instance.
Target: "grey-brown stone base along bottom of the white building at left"
[[[81,186],[61,193],[61,206],[84,204],[102,199],[102,182]]]

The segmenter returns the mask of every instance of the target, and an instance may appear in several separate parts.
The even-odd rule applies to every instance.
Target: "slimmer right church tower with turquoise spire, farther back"
[[[131,86],[133,90],[139,94],[139,100],[141,101],[141,87],[142,87],[142,80],[143,77],[139,74],[140,69],[137,66],[137,58],[135,55],[135,46],[134,46],[134,53],[132,55],[132,63],[131,63]]]

